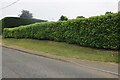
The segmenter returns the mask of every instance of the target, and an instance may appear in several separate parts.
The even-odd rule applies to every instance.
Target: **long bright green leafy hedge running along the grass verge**
[[[119,48],[118,13],[78,18],[68,21],[35,23],[16,28],[5,28],[5,38],[30,38],[62,41],[82,46]]]

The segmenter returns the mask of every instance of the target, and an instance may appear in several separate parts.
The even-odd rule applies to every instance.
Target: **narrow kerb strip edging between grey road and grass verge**
[[[69,62],[69,63],[76,64],[78,66],[82,66],[82,67],[86,67],[86,68],[89,68],[89,69],[102,71],[102,72],[105,72],[105,73],[109,73],[109,74],[120,76],[119,73],[115,73],[115,72],[112,72],[112,71],[103,70],[103,69],[99,69],[99,68],[95,68],[95,67],[90,67],[90,66],[86,66],[86,65],[81,65],[79,63],[76,63],[76,62],[70,60],[69,58],[62,58],[61,56],[58,57],[58,56],[55,56],[55,55],[51,56],[51,55],[33,53],[33,52],[25,50],[25,49],[15,48],[13,46],[6,46],[6,45],[3,45],[3,44],[2,44],[2,47],[8,48],[8,49],[17,50],[17,51],[24,52],[24,53],[28,53],[28,54],[31,54],[31,55],[41,56],[41,57],[45,57],[45,58],[49,58],[49,59],[55,59],[55,60],[59,60],[59,61],[63,61],[63,62]],[[45,53],[45,52],[42,52],[42,53]]]

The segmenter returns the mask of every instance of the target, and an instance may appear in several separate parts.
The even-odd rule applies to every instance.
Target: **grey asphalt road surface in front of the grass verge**
[[[117,75],[89,69],[13,49],[2,49],[3,78],[118,78]]]

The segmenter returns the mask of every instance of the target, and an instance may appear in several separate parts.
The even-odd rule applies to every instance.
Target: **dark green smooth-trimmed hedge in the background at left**
[[[3,28],[13,28],[13,27],[28,25],[36,22],[46,22],[45,20],[25,19],[20,17],[5,17],[1,21],[2,21]]]

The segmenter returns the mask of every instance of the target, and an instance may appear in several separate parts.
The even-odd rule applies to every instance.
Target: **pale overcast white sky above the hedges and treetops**
[[[4,8],[15,1],[17,0],[0,1],[0,19],[18,17],[22,10],[29,10],[34,18],[48,21],[57,21],[61,15],[69,19],[97,16],[107,11],[117,12],[119,0],[19,0]]]

